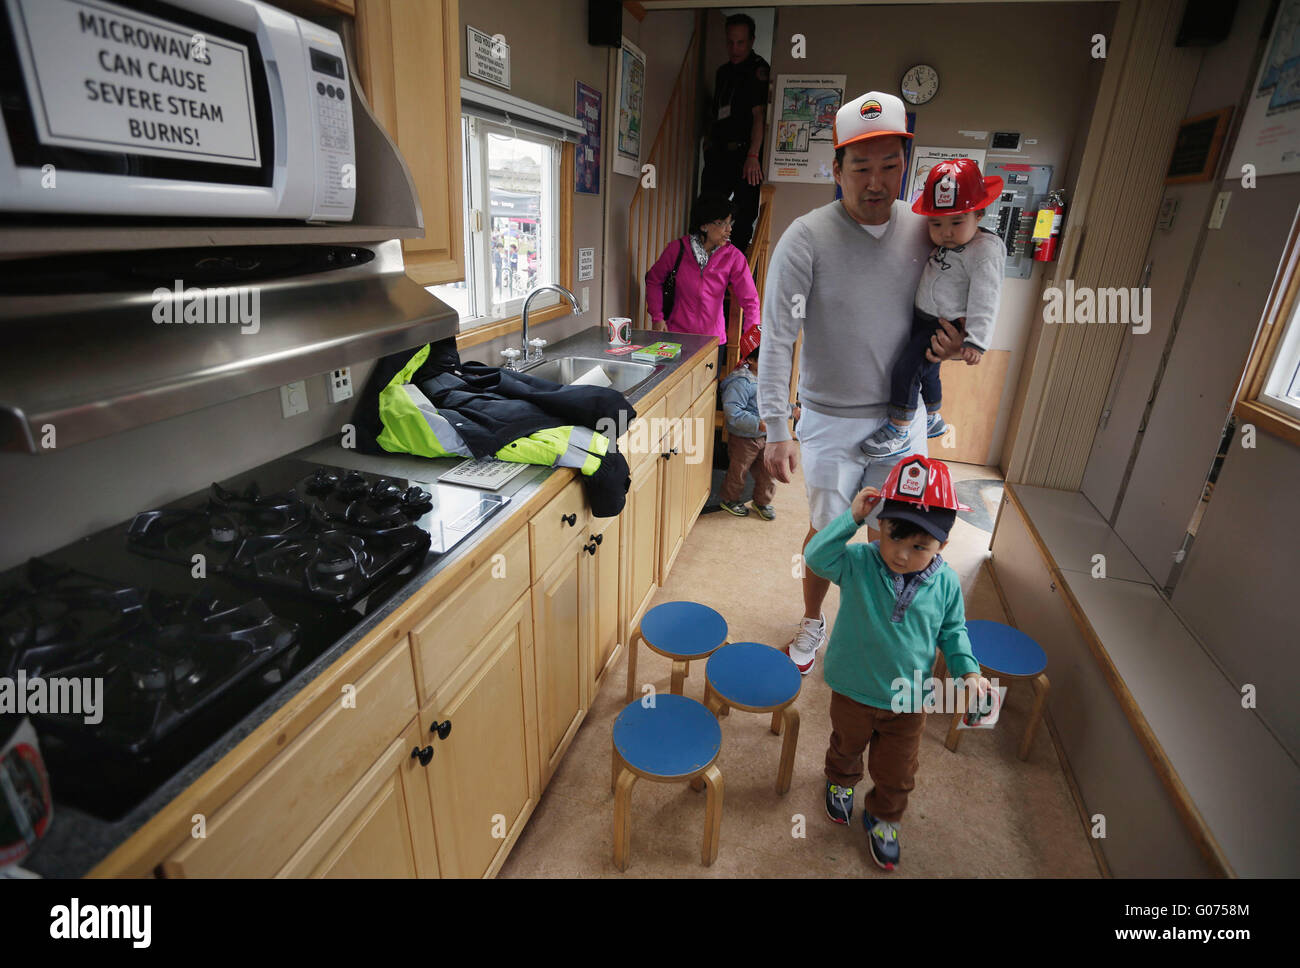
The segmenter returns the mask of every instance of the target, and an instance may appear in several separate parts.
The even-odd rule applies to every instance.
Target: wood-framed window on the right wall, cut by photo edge
[[[1235,412],[1300,446],[1300,209],[1277,279]]]

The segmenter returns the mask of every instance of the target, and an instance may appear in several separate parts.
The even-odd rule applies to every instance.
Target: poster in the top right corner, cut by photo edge
[[[1282,0],[1225,178],[1300,172],[1300,0]]]

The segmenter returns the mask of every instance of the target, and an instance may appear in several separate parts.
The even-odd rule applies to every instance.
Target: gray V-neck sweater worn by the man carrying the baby
[[[767,268],[758,363],[758,412],[768,442],[790,439],[785,414],[801,326],[800,403],[829,416],[885,416],[889,374],[911,333],[931,248],[926,218],[898,199],[880,239],[840,200],[785,230]]]

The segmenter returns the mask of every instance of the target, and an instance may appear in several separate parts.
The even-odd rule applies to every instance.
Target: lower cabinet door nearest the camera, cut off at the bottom
[[[437,877],[433,813],[412,750],[419,720],[393,741],[277,877]]]

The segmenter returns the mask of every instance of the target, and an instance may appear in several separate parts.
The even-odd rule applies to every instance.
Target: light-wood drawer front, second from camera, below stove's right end
[[[549,505],[547,505],[549,507]],[[520,528],[499,552],[473,573],[411,629],[420,702],[426,703],[482,642],[500,617],[500,607],[529,586],[528,533]]]

